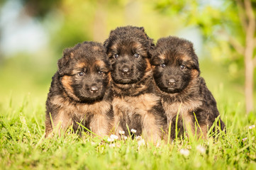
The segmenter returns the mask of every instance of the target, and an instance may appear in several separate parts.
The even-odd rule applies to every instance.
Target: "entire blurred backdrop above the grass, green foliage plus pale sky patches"
[[[44,106],[65,47],[104,42],[110,30],[132,25],[155,42],[168,35],[191,40],[218,107],[245,107],[243,55],[229,38],[244,43],[238,10],[232,0],[1,0],[0,105],[29,96]]]

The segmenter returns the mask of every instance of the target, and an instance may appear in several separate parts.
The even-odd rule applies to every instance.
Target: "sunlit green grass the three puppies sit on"
[[[30,80],[31,89],[18,83],[24,75],[0,74],[6,80],[0,84],[0,169],[256,169],[256,128],[249,128],[256,125],[256,112],[245,114],[239,85],[233,88],[225,77],[209,77],[202,64],[201,70],[226,123],[226,134],[218,140],[190,137],[157,147],[129,137],[108,142],[88,134],[45,139],[50,76],[41,88]],[[221,68],[215,73],[223,76]],[[13,89],[15,83],[18,90]]]

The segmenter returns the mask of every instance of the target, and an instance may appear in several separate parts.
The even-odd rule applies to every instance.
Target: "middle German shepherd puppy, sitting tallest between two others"
[[[163,137],[162,130],[167,130],[161,98],[153,86],[149,53],[153,45],[144,28],[133,26],[112,30],[104,42],[111,62],[116,135],[119,130],[128,134],[129,128],[145,140],[157,142]]]

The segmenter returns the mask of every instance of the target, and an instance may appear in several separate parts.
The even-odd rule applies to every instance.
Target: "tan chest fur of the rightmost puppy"
[[[184,102],[169,102],[162,100],[162,106],[165,109],[167,118],[172,118],[174,115],[179,114],[189,114],[196,111],[202,105],[201,101],[184,101]]]

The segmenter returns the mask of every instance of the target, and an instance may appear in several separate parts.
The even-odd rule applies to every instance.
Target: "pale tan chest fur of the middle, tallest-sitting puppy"
[[[115,115],[145,115],[160,101],[159,96],[154,94],[142,94],[140,96],[122,96],[113,98],[113,111]]]

